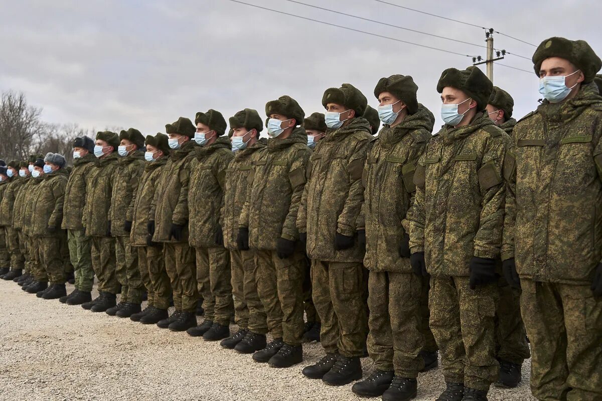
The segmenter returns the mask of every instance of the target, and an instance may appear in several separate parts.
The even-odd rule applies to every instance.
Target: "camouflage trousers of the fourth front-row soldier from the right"
[[[327,354],[364,354],[367,308],[362,263],[311,261],[315,310],[320,315],[320,343]]]

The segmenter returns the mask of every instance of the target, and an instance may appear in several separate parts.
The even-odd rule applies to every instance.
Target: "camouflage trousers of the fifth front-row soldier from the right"
[[[280,259],[276,251],[256,251],[255,280],[259,299],[267,315],[267,327],[274,338],[292,346],[303,338],[303,277],[305,254]]]

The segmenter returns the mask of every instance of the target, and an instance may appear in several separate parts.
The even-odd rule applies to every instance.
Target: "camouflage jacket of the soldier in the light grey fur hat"
[[[36,198],[31,207],[31,235],[54,236],[48,227],[60,230],[63,223],[63,200],[69,179],[69,171],[60,168],[54,173],[44,174],[38,185]]]

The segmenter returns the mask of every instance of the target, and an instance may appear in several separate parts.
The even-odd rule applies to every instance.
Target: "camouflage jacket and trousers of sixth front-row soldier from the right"
[[[267,333],[265,310],[259,301],[255,284],[255,252],[250,249],[239,251],[236,237],[238,220],[253,177],[252,162],[266,144],[267,139],[259,139],[255,144],[235,153],[234,159],[226,168],[226,190],[220,213],[224,246],[230,251],[234,319],[241,329],[249,329],[255,334]]]

